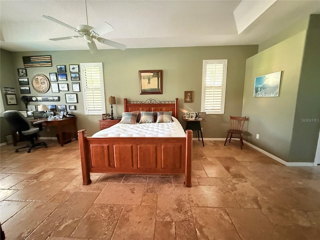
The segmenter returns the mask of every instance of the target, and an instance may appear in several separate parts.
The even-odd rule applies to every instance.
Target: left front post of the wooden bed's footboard
[[[90,159],[87,159],[89,153],[87,152],[86,130],[78,130],[78,140],[80,148],[81,168],[82,168],[82,184],[88,185],[91,183],[89,165]]]

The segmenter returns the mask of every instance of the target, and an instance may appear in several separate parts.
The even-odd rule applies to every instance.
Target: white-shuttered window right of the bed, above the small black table
[[[203,60],[201,111],[224,113],[227,59]]]

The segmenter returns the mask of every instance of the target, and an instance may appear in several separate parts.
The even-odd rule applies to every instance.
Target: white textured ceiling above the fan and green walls
[[[127,48],[259,44],[320,13],[319,0],[87,0],[88,24],[114,28],[102,37]],[[83,38],[42,17],[86,24],[84,0],[0,0],[0,47],[10,51],[88,49]],[[98,49],[112,48],[96,42]]]

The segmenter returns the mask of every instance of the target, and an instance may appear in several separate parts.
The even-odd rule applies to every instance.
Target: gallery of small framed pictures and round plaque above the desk
[[[6,97],[5,103],[7,105],[18,104],[20,100],[19,96],[26,96],[26,107],[28,111],[36,111],[37,107],[36,104],[34,104],[34,101],[43,101],[50,111],[59,111],[61,109],[65,111],[76,110],[76,105],[74,103],[78,103],[77,94],[72,92],[80,92],[79,64],[57,64],[55,66],[52,65],[48,69],[47,72],[34,72],[33,68],[28,71],[26,68],[17,68],[18,93],[20,93],[20,95],[16,96],[15,88],[13,88],[14,92],[12,92],[7,90],[9,88],[11,89],[11,87],[3,87]],[[33,78],[35,75],[45,76],[45,78],[48,79],[48,83],[46,83],[49,85],[48,90],[51,88],[52,93],[57,93],[56,96],[54,96],[54,94],[52,94],[52,97],[42,96],[46,95],[44,94],[45,92],[39,92],[38,89],[34,88]],[[72,81],[71,84],[68,84],[69,81]],[[40,78],[38,78],[38,85],[41,86]],[[65,92],[65,100],[63,99],[63,96],[60,95],[62,92]],[[56,102],[57,99],[60,102]],[[53,101],[52,103],[54,104],[51,104],[50,101]],[[63,105],[64,102],[72,105]]]

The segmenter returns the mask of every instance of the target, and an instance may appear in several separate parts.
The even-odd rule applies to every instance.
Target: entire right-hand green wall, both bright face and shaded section
[[[287,162],[314,161],[320,126],[319,16],[311,15],[306,30],[246,61],[244,139]],[[279,96],[253,97],[254,77],[275,71],[283,71]]]

